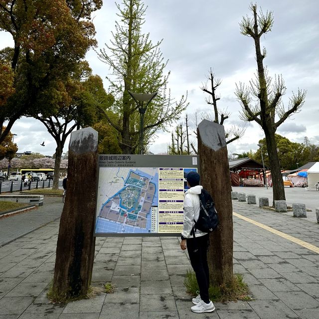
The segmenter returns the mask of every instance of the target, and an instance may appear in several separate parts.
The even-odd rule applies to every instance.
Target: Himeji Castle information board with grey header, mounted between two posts
[[[99,155],[95,236],[174,236],[196,156]]]

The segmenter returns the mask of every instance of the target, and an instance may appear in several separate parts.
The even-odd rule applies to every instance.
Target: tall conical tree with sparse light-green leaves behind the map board
[[[113,40],[107,49],[102,49],[99,58],[112,70],[107,77],[110,90],[115,97],[112,111],[117,114],[114,121],[106,113],[110,125],[119,133],[118,141],[124,154],[134,154],[139,145],[140,114],[128,91],[155,93],[144,118],[145,142],[159,129],[177,120],[186,108],[186,97],[178,102],[167,90],[169,73],[164,75],[167,61],[160,52],[160,43],[152,43],[150,34],[142,33],[146,8],[141,0],[123,0],[119,10],[119,21],[115,22]],[[108,53],[110,52],[110,53]]]

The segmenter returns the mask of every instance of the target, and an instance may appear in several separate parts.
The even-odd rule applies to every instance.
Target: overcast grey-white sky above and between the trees
[[[120,2],[120,1],[119,1]],[[236,101],[235,83],[249,83],[256,70],[255,49],[250,37],[240,34],[239,22],[242,16],[250,14],[250,1],[244,0],[145,0],[148,9],[144,33],[150,32],[156,42],[163,39],[160,46],[165,59],[166,71],[171,71],[168,87],[172,96],[178,100],[188,92],[190,118],[194,113],[212,112],[206,104],[205,94],[200,90],[210,68],[222,80],[217,91],[221,99],[218,106],[231,112],[225,126],[245,125],[239,119],[240,105]],[[293,142],[303,142],[307,136],[313,144],[319,144],[319,2],[317,0],[260,0],[263,11],[274,11],[274,26],[262,40],[267,49],[264,65],[269,74],[282,74],[287,93],[284,104],[288,106],[292,92],[298,88],[308,91],[302,111],[281,125],[277,133]],[[104,1],[103,7],[95,12],[94,23],[99,48],[110,43],[114,31],[116,6],[113,1]],[[0,48],[12,45],[8,34],[0,32]],[[87,59],[93,72],[108,83],[105,76],[108,67],[98,60],[91,50]],[[239,141],[228,145],[229,153],[256,151],[263,131],[255,123],[248,123],[245,135]],[[33,119],[22,118],[11,130],[17,134],[14,142],[19,152],[40,152],[52,155],[55,142],[46,132],[43,124]],[[45,141],[45,147],[40,144]],[[165,152],[169,135],[159,132],[151,152]],[[64,152],[67,151],[67,146]]]

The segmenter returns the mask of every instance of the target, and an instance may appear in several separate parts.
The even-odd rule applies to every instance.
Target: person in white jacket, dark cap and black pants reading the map
[[[215,310],[214,304],[209,300],[209,269],[207,263],[208,233],[200,230],[194,231],[194,220],[199,216],[199,194],[203,186],[199,185],[200,176],[195,171],[190,171],[187,176],[187,185],[190,187],[184,196],[184,221],[181,233],[180,248],[187,249],[191,266],[195,272],[199,294],[192,299],[195,305],[191,311],[197,314],[211,313]]]

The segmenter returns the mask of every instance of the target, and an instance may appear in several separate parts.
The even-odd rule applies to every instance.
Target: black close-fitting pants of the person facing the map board
[[[191,266],[196,274],[200,298],[209,303],[209,270],[207,264],[208,234],[196,238],[187,238],[186,246]]]

